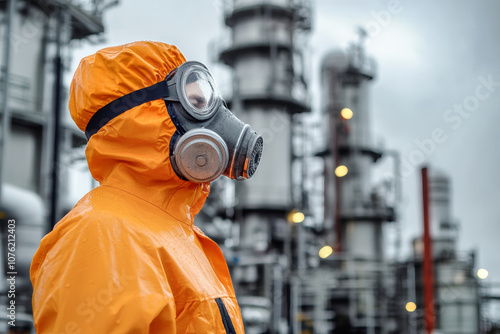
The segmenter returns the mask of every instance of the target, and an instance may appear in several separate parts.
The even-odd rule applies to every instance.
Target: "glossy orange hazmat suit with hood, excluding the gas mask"
[[[164,80],[185,62],[175,47],[135,42],[85,57],[69,109],[84,131],[101,107]],[[227,264],[193,218],[209,183],[181,180],[165,102],[113,118],[86,148],[100,186],[46,235],[31,265],[38,334],[243,333]]]

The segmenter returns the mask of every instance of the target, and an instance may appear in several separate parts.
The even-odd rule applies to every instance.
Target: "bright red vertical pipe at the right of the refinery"
[[[435,327],[434,313],[434,268],[432,258],[432,239],[430,232],[429,213],[429,179],[427,167],[422,168],[422,203],[424,215],[424,305],[425,328],[427,334],[432,334]]]

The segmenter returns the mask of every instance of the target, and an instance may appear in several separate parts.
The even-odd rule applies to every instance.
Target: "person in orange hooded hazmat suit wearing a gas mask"
[[[69,109],[100,186],[33,258],[37,333],[243,333],[225,259],[193,218],[210,181],[252,176],[262,137],[164,43],[84,58]]]

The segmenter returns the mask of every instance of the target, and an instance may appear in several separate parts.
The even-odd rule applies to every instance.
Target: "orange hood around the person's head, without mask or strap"
[[[85,57],[71,82],[71,117],[85,131],[97,110],[164,80],[185,61],[175,46],[159,42],[134,42]],[[192,224],[210,183],[183,181],[175,174],[169,158],[175,131],[165,102],[154,100],[110,120],[90,138],[85,153],[101,185],[127,191]]]

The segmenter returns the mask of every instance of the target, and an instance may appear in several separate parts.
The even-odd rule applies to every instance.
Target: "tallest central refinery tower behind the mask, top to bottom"
[[[289,326],[291,124],[293,114],[308,110],[295,95],[302,88],[305,96],[295,37],[310,29],[309,15],[309,1],[225,2],[232,44],[220,59],[233,69],[228,103],[264,138],[258,171],[236,185],[239,240],[232,270],[248,333],[284,333]]]

